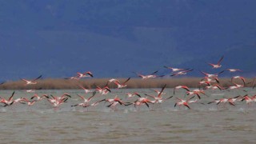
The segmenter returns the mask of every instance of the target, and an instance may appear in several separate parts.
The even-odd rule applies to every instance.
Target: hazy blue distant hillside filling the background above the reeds
[[[98,78],[162,66],[255,75],[256,1],[1,1],[1,79]],[[201,76],[197,72],[191,73]]]

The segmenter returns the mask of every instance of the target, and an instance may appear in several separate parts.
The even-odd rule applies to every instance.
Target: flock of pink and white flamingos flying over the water
[[[222,67],[221,62],[223,60],[222,58],[219,59],[217,64],[213,63],[208,63],[210,66],[212,66],[213,69],[219,69]],[[174,68],[174,67],[168,67],[164,66],[166,69],[171,70],[170,71],[170,76],[172,77],[177,77],[178,75],[184,75],[187,74],[188,72],[192,71],[193,69],[179,69],[179,68]],[[239,69],[226,69],[230,73],[237,73],[237,72],[242,72],[242,70]],[[209,97],[205,91],[206,90],[242,90],[243,92],[247,92],[246,90],[243,90],[242,88],[245,87],[247,84],[250,84],[254,88],[254,80],[252,82],[246,82],[246,78],[243,78],[242,76],[234,76],[230,79],[230,82],[233,84],[232,86],[229,87],[222,87],[219,85],[219,80],[218,80],[218,75],[222,74],[224,71],[222,70],[218,74],[207,74],[206,72],[200,71],[203,75],[203,78],[201,79],[200,82],[198,82],[200,88],[198,89],[190,89],[188,86],[175,86],[172,95],[167,96],[165,90],[166,90],[166,85],[162,87],[161,90],[154,90],[155,94],[139,94],[138,92],[130,92],[126,94],[125,100],[122,98],[119,98],[118,95],[115,95],[114,98],[107,98],[106,95],[111,93],[111,90],[109,88],[110,83],[114,83],[114,85],[117,86],[117,89],[122,89],[127,86],[127,83],[130,81],[130,78],[127,78],[125,82],[120,82],[118,79],[112,78],[106,82],[106,86],[100,87],[97,86],[96,89],[94,90],[88,90],[84,86],[79,86],[82,90],[84,90],[84,93],[90,94],[89,98],[85,98],[85,96],[82,96],[81,94],[77,94],[74,97],[78,97],[81,99],[81,102],[78,102],[72,107],[75,106],[81,106],[81,107],[92,107],[92,106],[98,106],[99,103],[101,102],[107,102],[108,104],[106,105],[107,107],[111,108],[112,110],[117,110],[118,106],[147,106],[150,108],[150,105],[154,104],[160,104],[162,102],[166,102],[170,98],[175,99],[175,104],[174,107],[176,106],[186,106],[186,109],[190,109],[190,103],[198,102],[200,104],[206,105],[206,104],[213,104],[215,103],[216,105],[220,106],[225,106],[226,104],[229,104],[230,106],[236,106],[237,102],[246,102],[246,104],[251,104],[253,102],[256,102],[256,94],[253,96],[250,96],[249,94],[244,94],[244,95],[234,95],[231,98],[220,98],[220,99],[214,99],[211,102],[201,102],[201,98],[203,96]],[[142,79],[148,79],[148,78],[159,78],[163,77],[164,75],[157,75],[158,71],[154,71],[152,74],[148,75],[142,75],[142,74],[137,74],[138,77]],[[79,80],[81,78],[86,78],[86,77],[94,77],[94,75],[90,72],[87,71],[86,73],[77,73],[74,77],[66,78],[66,79],[75,79]],[[37,80],[39,78],[42,78],[42,75],[40,75],[38,78],[34,78],[33,80],[27,80],[22,78],[22,81],[25,83],[25,85],[36,85]],[[176,96],[177,90],[184,90],[184,95],[185,99],[178,98]],[[182,92],[179,90],[179,92]],[[2,103],[2,107],[6,106],[14,106],[17,104],[23,104],[27,106],[34,106],[37,102],[40,102],[42,100],[45,100],[46,102],[49,102],[54,109],[58,108],[62,104],[69,102],[69,99],[71,98],[70,94],[62,94],[61,96],[54,96],[53,94],[42,94],[38,95],[36,94],[36,90],[26,90],[27,93],[34,93],[34,95],[31,98],[16,98],[14,99],[14,94],[15,91],[11,94],[10,98],[3,98],[0,96],[1,100],[0,102]],[[98,97],[98,98],[95,98]],[[93,102],[94,99],[94,102]]]

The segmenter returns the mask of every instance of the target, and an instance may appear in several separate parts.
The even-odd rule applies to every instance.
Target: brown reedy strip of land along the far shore
[[[38,80],[35,85],[26,85],[25,82],[6,82],[0,85],[0,90],[71,90],[71,89],[81,89],[79,86],[84,86],[87,89],[94,89],[96,86],[106,86],[107,81],[110,78],[88,78],[80,80],[70,80],[61,78],[48,78]],[[188,87],[198,87],[198,83],[202,78],[152,78],[152,79],[141,79],[141,78],[131,78],[127,82],[126,88],[160,88],[166,84],[167,88],[173,88],[179,85],[185,85]],[[118,78],[120,82],[125,82],[126,78]],[[230,82],[230,78],[220,78],[220,86],[233,86]],[[246,78],[246,82],[252,82],[253,78]],[[242,84],[241,80],[237,79],[234,82]],[[252,86],[248,84],[246,86]],[[110,83],[110,88],[116,88],[113,83]]]

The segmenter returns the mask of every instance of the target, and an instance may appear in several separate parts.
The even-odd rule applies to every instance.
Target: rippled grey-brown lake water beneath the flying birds
[[[9,98],[12,90],[2,90],[0,95]],[[154,91],[141,89],[113,90],[102,98],[126,100],[127,92],[141,95],[154,94]],[[166,96],[173,94],[166,89]],[[26,106],[16,104],[0,108],[1,143],[255,143],[256,106],[237,102],[236,106],[216,106],[191,103],[191,109],[175,107],[176,98],[162,104],[118,106],[117,110],[106,107],[104,102],[98,106],[83,108],[71,107],[82,102],[76,94],[82,90],[38,90],[37,94],[62,95],[69,93],[72,98],[54,110],[46,100]],[[256,94],[250,90],[250,95]],[[174,96],[184,98],[185,91],[178,90]],[[200,102],[210,102],[215,98],[230,98],[245,94],[242,90],[206,91]],[[30,98],[33,94],[16,90],[14,98]],[[87,94],[87,98],[90,94]]]

